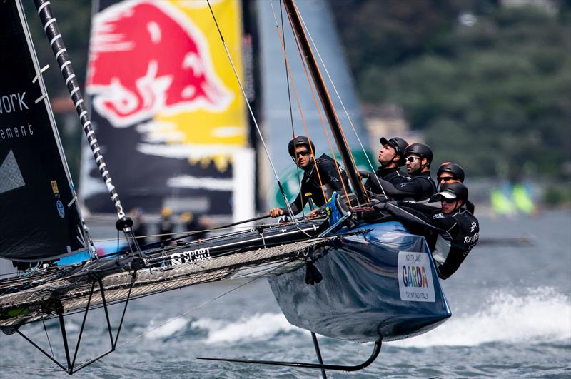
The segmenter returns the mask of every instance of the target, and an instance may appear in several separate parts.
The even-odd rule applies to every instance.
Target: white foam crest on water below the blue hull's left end
[[[236,342],[238,340],[265,339],[280,332],[296,330],[281,313],[256,313],[236,323],[201,319],[193,327],[208,330],[206,343]]]

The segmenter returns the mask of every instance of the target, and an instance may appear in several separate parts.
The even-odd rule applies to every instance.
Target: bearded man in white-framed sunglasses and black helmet
[[[436,193],[436,185],[430,178],[430,163],[433,151],[424,143],[411,143],[405,148],[405,164],[408,177],[406,181],[394,185],[390,181],[379,179],[385,193],[394,200],[412,199],[423,201]],[[376,180],[375,180],[376,182]]]

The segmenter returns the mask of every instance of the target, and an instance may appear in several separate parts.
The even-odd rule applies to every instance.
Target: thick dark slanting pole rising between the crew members
[[[348,173],[351,184],[353,185],[353,190],[357,196],[357,201],[359,203],[366,203],[367,198],[365,196],[365,192],[363,191],[363,186],[361,185],[360,176],[355,166],[353,166],[349,148],[347,143],[345,143],[345,138],[343,138],[339,120],[335,114],[333,103],[331,102],[327,88],[325,87],[323,76],[321,76],[319,66],[315,60],[313,51],[311,51],[308,38],[305,35],[305,31],[303,30],[303,26],[301,25],[298,10],[295,7],[293,0],[283,0],[283,5],[285,6],[285,10],[288,11],[291,25],[293,26],[293,30],[295,30],[295,38],[298,39],[301,51],[303,51],[303,56],[305,57],[305,61],[309,66],[313,82],[315,83],[319,98],[323,104],[323,108],[325,109],[325,115],[327,116],[329,127],[333,133],[333,138],[335,138],[335,143],[339,148],[339,153],[341,154],[341,159],[343,160],[343,166],[345,166],[345,171]]]

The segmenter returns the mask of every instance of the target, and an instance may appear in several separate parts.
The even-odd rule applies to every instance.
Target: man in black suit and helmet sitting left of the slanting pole
[[[327,202],[323,196],[324,192],[327,198],[331,196],[333,191],[350,193],[348,176],[343,167],[326,154],[315,159],[315,145],[309,138],[305,136],[294,137],[288,143],[288,152],[295,164],[303,170],[301,191],[290,203],[293,215],[300,213],[310,200],[315,206],[323,206]],[[322,188],[322,185],[325,188]],[[312,211],[308,216],[315,216],[315,211]],[[287,208],[273,208],[269,213],[272,217],[292,216]]]

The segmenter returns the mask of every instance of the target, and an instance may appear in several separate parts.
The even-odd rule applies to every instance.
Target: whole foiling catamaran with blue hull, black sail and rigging
[[[283,6],[353,193],[334,193],[328,202],[327,218],[290,218],[285,223],[199,241],[172,238],[172,244],[150,246],[139,246],[133,236],[133,221],[123,210],[111,178],[112,168],[103,158],[50,1],[34,2],[116,211],[116,229],[126,236],[128,246],[109,256],[95,253],[59,141],[23,6],[20,0],[1,2],[0,49],[10,54],[5,55],[9,59],[0,61],[5,84],[0,96],[0,223],[5,232],[0,239],[0,257],[32,266],[25,275],[0,281],[0,329],[4,333],[21,335],[71,375],[116,349],[131,300],[198,283],[266,276],[288,321],[310,330],[318,363],[201,359],[315,368],[325,376],[325,370],[363,369],[377,358],[383,340],[425,333],[450,317],[425,239],[383,215],[367,216],[372,209],[370,194],[360,182],[307,28],[293,0],[284,0]],[[216,13],[208,1],[207,5],[232,63]],[[246,96],[237,73],[236,80]],[[251,108],[249,111],[265,147],[255,115]],[[277,173],[275,176],[281,187]],[[283,198],[287,203],[285,193]],[[123,313],[113,335],[108,306],[115,303],[123,303]],[[89,310],[100,307],[106,314],[110,348],[76,363],[86,316]],[[83,312],[84,318],[73,351],[65,320],[77,312]],[[50,318],[59,320],[65,362],[47,353],[25,333],[26,324]],[[373,352],[360,365],[328,365],[323,363],[316,334],[373,342]]]

